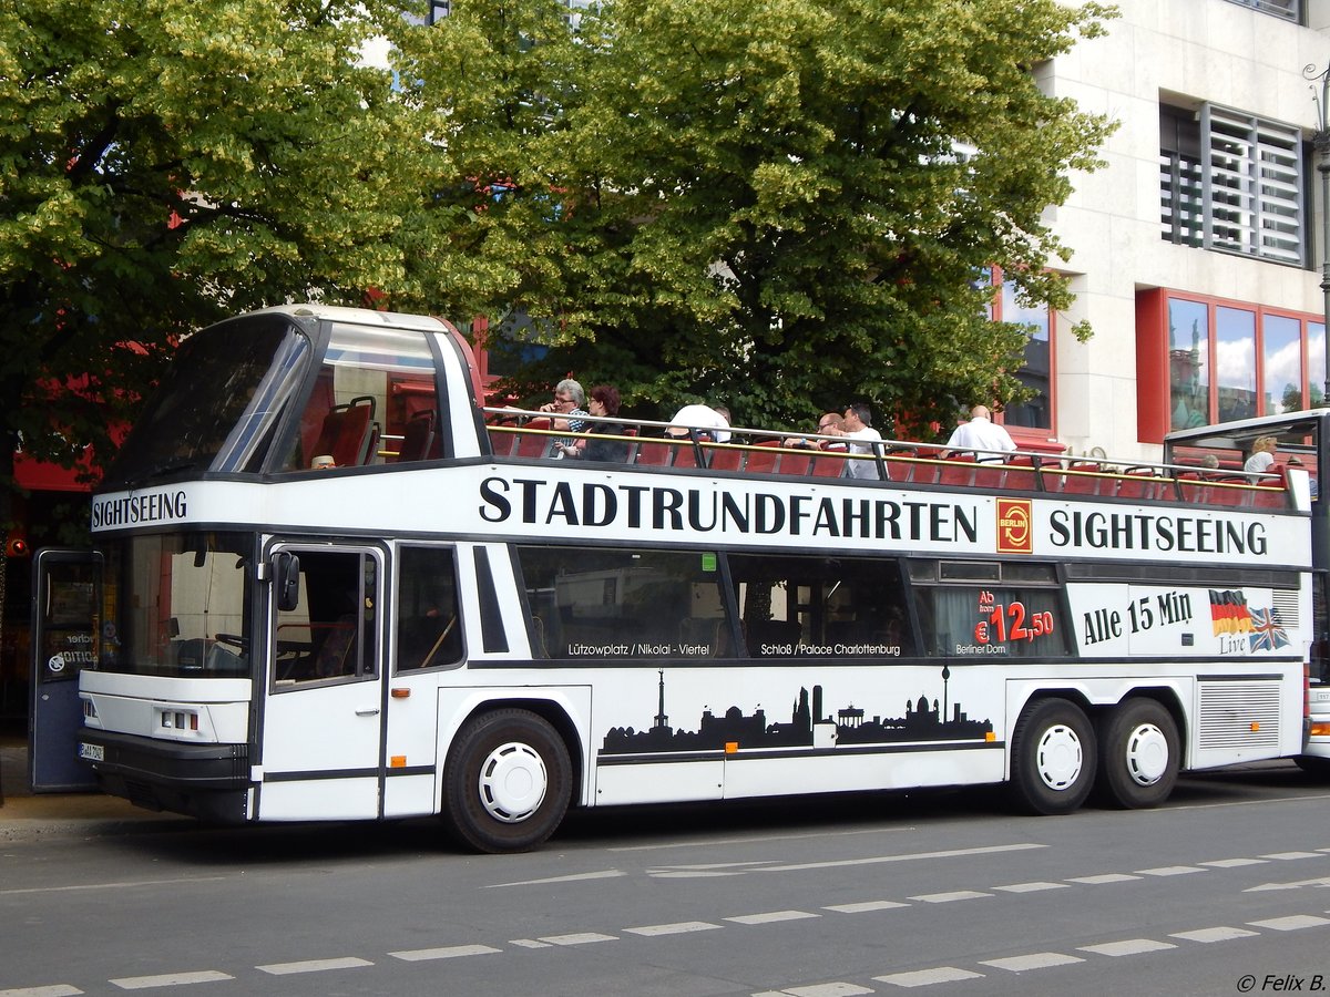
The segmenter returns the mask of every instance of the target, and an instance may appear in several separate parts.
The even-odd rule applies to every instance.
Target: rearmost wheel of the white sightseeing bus
[[[1124,810],[1157,807],[1173,792],[1181,740],[1173,715],[1153,699],[1127,699],[1100,731],[1096,795]]]

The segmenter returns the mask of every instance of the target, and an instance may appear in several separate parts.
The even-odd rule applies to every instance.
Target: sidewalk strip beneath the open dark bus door
[[[28,743],[0,735],[0,843],[194,827],[176,814],[157,814],[101,792],[37,792],[28,784]]]

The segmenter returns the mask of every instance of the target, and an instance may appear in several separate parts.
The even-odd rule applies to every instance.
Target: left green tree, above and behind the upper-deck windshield
[[[109,455],[192,328],[402,283],[419,136],[359,57],[400,23],[382,0],[0,0],[0,525],[15,448]]]

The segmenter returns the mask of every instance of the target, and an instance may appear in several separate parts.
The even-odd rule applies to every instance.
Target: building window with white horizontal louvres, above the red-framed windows
[[[1160,106],[1160,222],[1168,242],[1301,266],[1302,133],[1202,104]]]

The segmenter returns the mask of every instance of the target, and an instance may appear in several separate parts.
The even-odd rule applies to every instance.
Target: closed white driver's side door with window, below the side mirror
[[[277,544],[258,731],[259,820],[382,815],[382,552]]]

